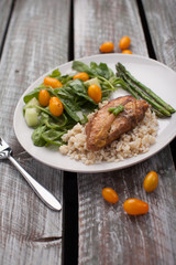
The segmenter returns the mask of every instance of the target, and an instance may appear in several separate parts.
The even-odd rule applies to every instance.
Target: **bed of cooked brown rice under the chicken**
[[[101,104],[101,108],[106,103]],[[94,114],[91,114],[94,115]],[[88,118],[91,117],[89,115]],[[155,142],[157,136],[157,118],[155,113],[147,109],[144,119],[131,131],[123,134],[120,139],[99,151],[89,151],[86,145],[85,126],[77,124],[72,130],[63,136],[67,145],[61,146],[59,151],[72,159],[81,160],[86,165],[101,161],[113,162],[125,158],[147,152],[150,146]]]

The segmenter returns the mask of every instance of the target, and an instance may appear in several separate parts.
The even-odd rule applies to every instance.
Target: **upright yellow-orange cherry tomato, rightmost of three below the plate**
[[[147,192],[152,192],[157,188],[158,184],[158,176],[155,171],[151,171],[146,174],[144,182],[143,182],[143,188]]]

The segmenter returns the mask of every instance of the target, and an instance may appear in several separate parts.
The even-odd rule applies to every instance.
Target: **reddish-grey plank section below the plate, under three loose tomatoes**
[[[160,184],[146,194],[142,184],[151,170]],[[175,264],[175,177],[165,152],[129,169],[79,176],[79,264]],[[117,204],[102,199],[105,187],[118,192]],[[148,213],[127,215],[122,204],[129,198],[146,201]]]

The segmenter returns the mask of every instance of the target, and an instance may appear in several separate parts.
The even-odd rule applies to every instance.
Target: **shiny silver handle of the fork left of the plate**
[[[36,180],[34,180],[12,157],[8,157],[10,161],[14,165],[14,167],[21,172],[21,174],[24,177],[24,179],[28,181],[28,183],[31,186],[31,188],[35,191],[35,193],[38,195],[38,198],[52,210],[59,211],[62,209],[61,203],[57,201],[57,199],[47,191],[44,187],[42,187]]]

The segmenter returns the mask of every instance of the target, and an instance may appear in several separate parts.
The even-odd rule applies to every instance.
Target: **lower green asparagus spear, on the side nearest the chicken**
[[[121,68],[118,67],[117,70],[121,73],[121,77],[125,83],[129,84],[130,88],[138,93],[143,99],[145,99],[147,103],[150,103],[154,108],[156,108],[160,113],[162,113],[165,116],[170,116],[170,113],[165,109],[163,106],[161,106],[158,103],[156,103],[153,98],[148,97],[143,91],[141,91],[139,87],[134,86],[129,78],[124,75],[124,73],[121,72]]]

